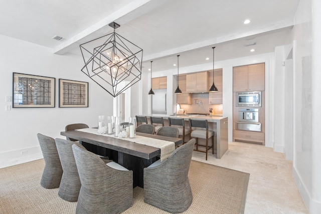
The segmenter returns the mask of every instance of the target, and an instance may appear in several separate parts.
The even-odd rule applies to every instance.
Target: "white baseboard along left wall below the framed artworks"
[[[0,153],[0,168],[43,158],[40,146]]]

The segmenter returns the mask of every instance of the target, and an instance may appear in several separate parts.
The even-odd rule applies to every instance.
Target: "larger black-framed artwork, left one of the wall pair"
[[[13,108],[54,108],[53,77],[13,73]]]

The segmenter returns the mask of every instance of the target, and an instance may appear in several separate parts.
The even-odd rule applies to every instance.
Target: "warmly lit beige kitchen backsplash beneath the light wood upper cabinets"
[[[193,93],[192,104],[181,104],[181,109],[187,113],[206,113],[210,114],[210,108],[213,109],[215,115],[223,115],[222,104],[209,104],[208,93]]]

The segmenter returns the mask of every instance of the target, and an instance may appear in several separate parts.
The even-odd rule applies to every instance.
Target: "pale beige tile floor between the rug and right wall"
[[[292,161],[259,144],[231,142],[221,159],[193,152],[193,160],[250,173],[244,213],[308,213],[292,176]]]

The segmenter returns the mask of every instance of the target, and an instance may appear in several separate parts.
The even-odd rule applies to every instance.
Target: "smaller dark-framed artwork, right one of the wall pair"
[[[59,107],[88,107],[88,82],[59,79]]]

